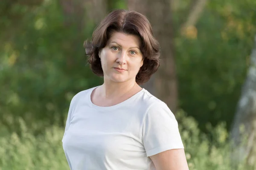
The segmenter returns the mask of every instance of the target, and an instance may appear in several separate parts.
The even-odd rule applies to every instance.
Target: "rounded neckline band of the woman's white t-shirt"
[[[126,105],[128,104],[128,102],[134,98],[136,98],[137,96],[139,96],[141,93],[143,93],[143,91],[145,91],[144,88],[142,88],[139,92],[137,92],[136,94],[134,94],[133,96],[131,96],[130,98],[126,99],[125,101],[121,102],[121,103],[118,103],[116,105],[113,105],[113,106],[98,106],[98,105],[94,105],[93,102],[91,101],[91,94],[93,92],[93,90],[95,88],[97,88],[99,86],[96,86],[94,88],[91,88],[90,91],[89,91],[89,94],[88,94],[88,102],[89,102],[89,105],[92,107],[92,108],[95,108],[96,110],[101,110],[101,111],[105,111],[105,110],[112,110],[112,109],[116,109],[116,108],[119,108],[120,106],[122,105]]]

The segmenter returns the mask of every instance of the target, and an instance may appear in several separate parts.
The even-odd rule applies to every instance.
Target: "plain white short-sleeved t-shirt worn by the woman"
[[[62,142],[71,170],[154,170],[149,156],[184,148],[174,114],[145,89],[110,107],[91,102],[93,89],[70,103]]]

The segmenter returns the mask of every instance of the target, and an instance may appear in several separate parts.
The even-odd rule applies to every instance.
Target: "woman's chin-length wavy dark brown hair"
[[[160,65],[160,46],[153,36],[148,19],[136,11],[113,10],[93,31],[92,40],[84,42],[88,63],[93,73],[103,76],[99,50],[107,45],[107,41],[114,31],[136,35],[140,38],[140,51],[142,51],[144,61],[136,76],[136,82],[139,85],[147,82]]]

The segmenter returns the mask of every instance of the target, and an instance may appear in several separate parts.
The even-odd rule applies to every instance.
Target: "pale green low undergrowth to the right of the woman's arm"
[[[225,123],[219,123],[216,127],[208,124],[209,132],[203,133],[198,122],[183,111],[177,112],[176,119],[189,170],[255,170],[256,164],[249,166],[245,161],[233,161]]]

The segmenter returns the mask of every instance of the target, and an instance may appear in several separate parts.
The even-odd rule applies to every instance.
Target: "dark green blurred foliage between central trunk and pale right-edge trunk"
[[[176,32],[180,108],[204,131],[207,122],[225,121],[228,129],[233,122],[256,34],[255,5],[254,0],[209,1],[195,27],[184,35]]]

